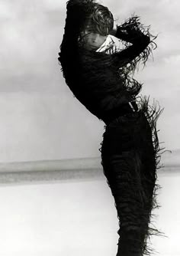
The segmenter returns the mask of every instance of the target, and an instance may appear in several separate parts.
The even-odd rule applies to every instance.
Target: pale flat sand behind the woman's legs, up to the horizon
[[[89,161],[87,166],[92,164],[92,159]],[[37,163],[41,166],[37,171],[30,167],[26,172],[20,167],[17,171],[16,166],[11,172],[7,169],[5,172],[5,166],[2,166],[1,254],[115,255],[117,214],[111,191],[97,162],[96,159],[92,169],[89,166],[85,169],[85,162],[77,163],[79,169],[66,169],[64,162],[64,166],[61,163],[61,168],[65,168],[62,171],[57,168],[44,170],[44,162]],[[158,173],[158,183],[162,186],[158,195],[161,208],[153,212],[156,215],[153,224],[167,236],[151,240],[159,256],[180,254],[179,170],[179,166],[169,166]]]

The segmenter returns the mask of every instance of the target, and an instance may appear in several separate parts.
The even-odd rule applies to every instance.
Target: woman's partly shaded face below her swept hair
[[[88,50],[97,50],[107,38],[107,35],[104,36],[93,31],[88,31],[88,28],[82,32],[82,36],[85,48]]]

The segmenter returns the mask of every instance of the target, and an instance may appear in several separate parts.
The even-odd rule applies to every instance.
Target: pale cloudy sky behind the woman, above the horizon
[[[140,15],[158,48],[136,77],[142,94],[165,107],[160,142],[180,148],[180,2],[104,0],[119,22]],[[0,0],[0,162],[99,156],[104,123],[66,86],[58,64],[65,0]]]

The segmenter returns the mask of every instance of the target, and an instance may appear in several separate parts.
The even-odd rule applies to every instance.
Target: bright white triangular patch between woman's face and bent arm
[[[101,52],[107,50],[105,53],[112,54],[114,51],[121,51],[124,49],[124,44],[122,44],[121,39],[114,37],[114,35],[108,34],[108,37],[104,41],[103,44],[101,44],[100,48],[96,50],[96,52]]]

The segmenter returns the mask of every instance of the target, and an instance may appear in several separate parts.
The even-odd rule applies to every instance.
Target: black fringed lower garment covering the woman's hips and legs
[[[160,235],[155,228],[149,228],[151,211],[156,206],[159,150],[155,121],[150,121],[152,126],[143,114],[134,119],[124,117],[107,126],[103,134],[101,165],[114,196],[120,227],[117,256],[149,255],[153,250],[147,238]]]

